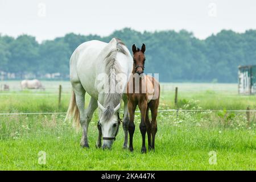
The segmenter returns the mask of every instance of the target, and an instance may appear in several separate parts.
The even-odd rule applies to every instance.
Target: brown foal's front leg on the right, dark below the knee
[[[141,124],[139,125],[139,130],[141,130],[141,135],[142,135],[142,148],[141,148],[141,152],[142,153],[146,153],[147,149],[146,149],[146,142],[145,142],[145,137],[146,137],[146,112],[147,112],[147,101],[142,101],[139,102],[139,109],[141,110]]]

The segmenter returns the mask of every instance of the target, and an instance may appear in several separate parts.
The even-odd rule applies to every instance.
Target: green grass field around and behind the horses
[[[3,82],[0,82],[3,84]],[[0,113],[65,112],[70,97],[68,82],[43,82],[45,91],[0,92]],[[58,107],[58,86],[63,85]],[[1,170],[255,170],[256,115],[226,110],[256,109],[256,96],[238,96],[236,84],[162,84],[159,110],[175,109],[174,88],[179,87],[181,109],[218,112],[159,112],[155,152],[141,154],[139,115],[135,117],[134,152],[122,149],[123,130],[112,150],[95,147],[97,112],[89,126],[90,148],[79,146],[81,131],[64,114],[0,115]],[[86,97],[88,104],[89,97]],[[39,164],[40,151],[46,164]]]

